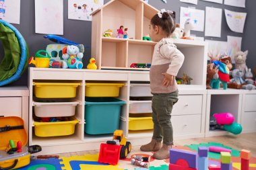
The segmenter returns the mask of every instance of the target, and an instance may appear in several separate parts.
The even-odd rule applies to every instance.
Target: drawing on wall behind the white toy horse
[[[181,7],[180,24],[181,28],[184,29],[185,22],[187,19],[191,19],[194,24],[192,30],[203,32],[204,30],[204,11],[199,9]]]

